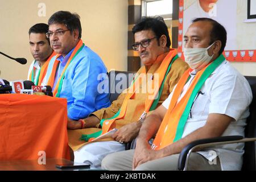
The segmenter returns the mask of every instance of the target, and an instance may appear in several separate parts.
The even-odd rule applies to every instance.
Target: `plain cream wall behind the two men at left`
[[[46,16],[38,16],[39,3],[45,3]],[[127,71],[127,0],[0,0],[0,51],[28,61],[21,65],[0,55],[1,78],[26,80],[33,60],[28,30],[35,23],[47,23],[59,10],[80,15],[82,40],[101,56],[108,70]]]

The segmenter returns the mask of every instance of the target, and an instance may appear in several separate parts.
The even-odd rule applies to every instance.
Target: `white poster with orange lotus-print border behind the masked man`
[[[251,0],[251,2],[253,1],[256,0]],[[179,56],[183,57],[183,36],[191,24],[191,20],[206,17],[216,20],[226,28],[227,43],[223,53],[226,60],[256,62],[256,23],[246,24],[243,22],[243,15],[246,16],[247,12],[244,2],[241,0],[180,0]]]

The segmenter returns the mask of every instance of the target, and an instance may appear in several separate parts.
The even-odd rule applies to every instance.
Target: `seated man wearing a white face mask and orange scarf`
[[[225,28],[213,19],[197,18],[184,41],[190,68],[167,100],[146,118],[135,150],[106,156],[102,168],[177,170],[179,153],[194,140],[244,135],[252,93],[245,77],[222,56]],[[154,136],[150,146],[148,140]],[[204,148],[192,152],[188,169],[240,170],[242,155],[243,143]]]

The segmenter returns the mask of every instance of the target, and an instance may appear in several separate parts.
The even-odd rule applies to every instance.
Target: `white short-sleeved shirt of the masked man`
[[[195,73],[195,70],[191,72],[191,78],[184,86],[178,101],[180,101],[187,92],[189,84],[196,75]],[[172,93],[167,100],[163,102],[163,106],[166,109],[168,109],[170,105]],[[250,97],[243,100],[243,98],[246,98],[246,95]],[[243,102],[237,104],[239,100]],[[225,114],[234,118],[234,121],[230,123],[222,136],[243,136],[246,118],[249,116],[249,110],[244,110],[244,108],[248,106],[250,101],[251,90],[247,80],[225,60],[212,75],[210,75],[210,78],[205,81],[205,84],[200,89],[200,93],[191,108],[191,114],[188,117],[182,138],[200,127],[203,127],[210,113]],[[215,151],[218,158],[220,158],[220,164],[223,170],[237,170],[242,167],[241,159],[243,146],[243,143],[228,144],[205,148],[205,150],[198,151],[197,153],[203,155],[210,161],[210,159],[213,158],[213,153],[210,151]],[[233,165],[234,163],[236,163],[236,165]]]

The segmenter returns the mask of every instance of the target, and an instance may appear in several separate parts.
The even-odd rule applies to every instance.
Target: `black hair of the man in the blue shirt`
[[[67,26],[68,30],[71,32],[74,30],[79,30],[79,39],[81,39],[82,27],[80,16],[78,14],[72,14],[69,11],[57,11],[48,20],[49,26],[55,23],[65,24],[65,26]]]

